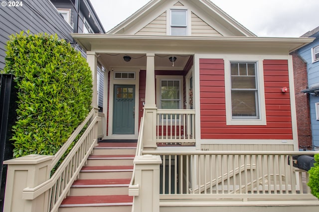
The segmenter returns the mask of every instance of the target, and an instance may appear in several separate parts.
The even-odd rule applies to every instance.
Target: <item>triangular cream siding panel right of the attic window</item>
[[[191,35],[192,36],[222,36],[214,28],[200,19],[193,12],[191,13]]]

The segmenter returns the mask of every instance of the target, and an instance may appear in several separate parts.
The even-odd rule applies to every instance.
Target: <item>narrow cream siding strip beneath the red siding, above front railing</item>
[[[294,151],[289,144],[202,144],[203,151]]]

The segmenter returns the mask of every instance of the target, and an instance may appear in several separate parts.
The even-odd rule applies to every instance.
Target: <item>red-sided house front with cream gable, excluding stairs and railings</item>
[[[88,61],[107,67],[104,139],[137,139],[143,108],[191,108],[194,149],[298,150],[289,52],[311,39],[257,37],[209,0],[151,0],[106,34],[72,36]],[[134,91],[130,104],[116,98],[123,85]],[[165,136],[184,130],[162,129]]]

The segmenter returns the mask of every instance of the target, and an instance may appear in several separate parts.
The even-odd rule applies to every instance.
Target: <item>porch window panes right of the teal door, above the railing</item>
[[[160,106],[162,109],[179,109],[181,102],[180,81],[160,81]]]

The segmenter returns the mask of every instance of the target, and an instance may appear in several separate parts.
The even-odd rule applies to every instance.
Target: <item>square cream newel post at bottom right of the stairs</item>
[[[159,155],[141,155],[134,159],[135,185],[133,212],[160,212],[160,164]]]

